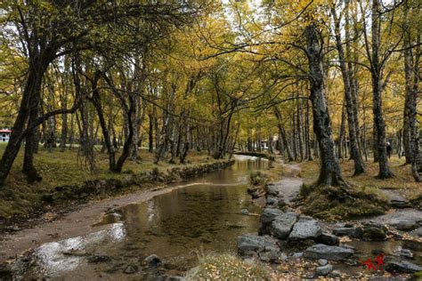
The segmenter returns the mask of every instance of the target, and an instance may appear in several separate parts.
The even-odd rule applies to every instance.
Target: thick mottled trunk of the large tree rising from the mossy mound
[[[317,185],[344,184],[340,165],[334,152],[329,108],[325,99],[324,69],[322,67],[322,42],[316,24],[305,28],[306,52],[310,68],[310,88],[313,113],[313,130],[320,146],[321,168]]]

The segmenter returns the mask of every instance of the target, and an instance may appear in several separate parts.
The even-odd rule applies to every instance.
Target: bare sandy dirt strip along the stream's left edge
[[[196,184],[204,184],[204,182],[142,190],[121,197],[92,202],[81,205],[77,211],[66,213],[57,220],[42,222],[32,229],[22,229],[12,234],[7,234],[0,241],[0,263],[48,242],[108,229],[110,225],[95,224],[99,222],[101,215],[110,211],[110,209],[132,203],[145,202],[152,197],[171,192],[174,189]]]

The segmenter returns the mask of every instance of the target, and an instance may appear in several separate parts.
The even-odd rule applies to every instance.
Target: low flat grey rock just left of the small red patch
[[[353,255],[353,249],[342,246],[317,244],[308,247],[304,251],[304,257],[310,259],[325,259],[329,261],[341,261]]]

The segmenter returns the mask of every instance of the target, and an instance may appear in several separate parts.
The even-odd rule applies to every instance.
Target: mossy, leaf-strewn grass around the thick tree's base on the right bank
[[[396,189],[404,197],[420,197],[422,185],[414,181],[410,173],[410,165],[404,165],[404,158],[392,157],[390,168],[394,178],[377,179],[377,163],[367,162],[367,173],[353,177],[353,161],[340,163],[343,178],[353,189],[333,187],[314,188],[312,183],[318,179],[319,165],[317,162],[304,162],[299,174],[304,178],[301,196],[304,197],[304,213],[323,219],[348,219],[371,214],[384,213],[388,208],[388,200],[380,189]],[[353,197],[353,198],[352,198]]]

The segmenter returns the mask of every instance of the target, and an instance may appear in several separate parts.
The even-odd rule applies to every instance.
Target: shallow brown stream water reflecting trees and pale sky
[[[174,274],[203,253],[235,253],[237,237],[259,227],[260,209],[247,193],[249,175],[268,166],[266,159],[236,156],[230,168],[114,210],[101,221],[108,229],[41,245],[14,268],[24,278],[114,279],[129,277],[127,267],[137,270],[153,253]],[[242,209],[256,215],[242,215]]]

